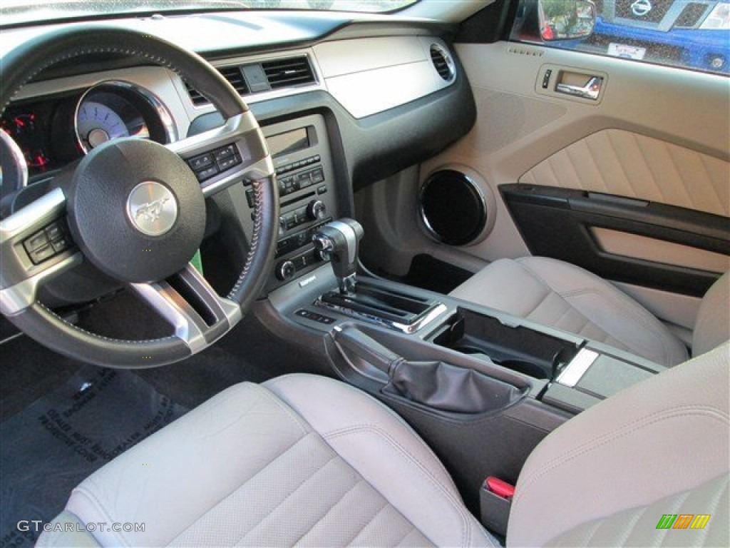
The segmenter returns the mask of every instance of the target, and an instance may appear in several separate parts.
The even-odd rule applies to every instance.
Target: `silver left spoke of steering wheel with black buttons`
[[[0,312],[15,316],[36,302],[38,289],[82,262],[66,223],[61,189],[0,221]]]

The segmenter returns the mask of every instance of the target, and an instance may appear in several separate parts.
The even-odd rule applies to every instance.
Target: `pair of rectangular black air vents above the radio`
[[[223,66],[218,71],[242,96],[274,89],[296,88],[316,82],[307,56],[273,59],[239,66]],[[187,88],[193,104],[196,106],[208,104],[208,100],[187,82],[185,82],[185,88]]]

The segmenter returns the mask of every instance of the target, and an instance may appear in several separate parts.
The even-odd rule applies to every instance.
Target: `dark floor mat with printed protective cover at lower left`
[[[31,546],[19,520],[50,521],[82,479],[185,411],[131,371],[87,365],[1,422],[2,545]]]

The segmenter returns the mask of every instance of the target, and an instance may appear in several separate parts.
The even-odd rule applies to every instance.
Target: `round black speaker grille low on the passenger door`
[[[423,183],[420,217],[426,231],[450,246],[474,243],[487,227],[487,204],[479,186],[464,172],[442,169]]]

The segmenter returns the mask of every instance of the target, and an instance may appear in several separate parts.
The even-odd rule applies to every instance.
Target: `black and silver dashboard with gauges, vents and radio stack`
[[[403,21],[380,28],[362,17],[320,20],[315,28],[307,18],[272,14],[253,25],[236,17],[190,15],[142,23],[207,56],[261,124],[280,194],[277,258],[266,286],[272,290],[306,280],[318,266],[311,233],[332,218],[353,216],[353,191],[458,140],[472,126],[475,104],[440,35],[442,23]],[[183,30],[190,24],[195,33]],[[231,25],[238,31],[234,37],[227,33]],[[242,32],[243,25],[255,26],[255,33]],[[288,39],[292,26],[299,37],[296,47]],[[277,34],[283,27],[288,32]],[[210,42],[207,47],[196,42],[203,31],[219,37],[215,53]],[[3,33],[0,50],[7,49],[14,32]],[[253,44],[256,36],[261,43]],[[0,127],[20,148],[29,189],[40,189],[109,140],[137,137],[165,144],[220,123],[207,99],[172,70],[110,57],[42,73],[21,89]],[[191,167],[201,184],[215,183],[226,170],[223,157],[194,160]],[[253,197],[249,182],[242,182],[226,191],[226,207],[234,211],[245,241],[253,232]],[[6,195],[17,190],[7,180],[0,189]],[[62,303],[79,300],[55,297]]]

